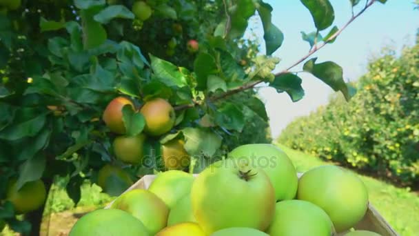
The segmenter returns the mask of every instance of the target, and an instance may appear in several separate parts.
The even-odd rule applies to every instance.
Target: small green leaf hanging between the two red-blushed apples
[[[127,130],[127,135],[139,135],[145,126],[145,119],[143,115],[140,112],[132,110],[132,106],[130,105],[123,106],[122,114],[123,124],[125,125],[125,130]]]

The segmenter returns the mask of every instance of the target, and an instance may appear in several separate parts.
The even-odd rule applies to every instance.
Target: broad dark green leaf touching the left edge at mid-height
[[[14,141],[23,137],[34,137],[43,128],[46,115],[42,114],[18,124],[12,124],[0,131],[0,139]]]

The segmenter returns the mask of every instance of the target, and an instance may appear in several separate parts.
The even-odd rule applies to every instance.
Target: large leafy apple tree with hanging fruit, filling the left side
[[[349,99],[342,68],[309,57],[376,2],[351,0],[338,28],[329,0],[301,0],[309,50],[273,73],[284,35],[262,0],[0,0],[0,223],[38,235],[56,176],[76,203],[87,180],[119,195],[145,174],[200,172],[266,124],[256,86],[303,98],[300,63]],[[265,55],[243,37],[254,16]]]

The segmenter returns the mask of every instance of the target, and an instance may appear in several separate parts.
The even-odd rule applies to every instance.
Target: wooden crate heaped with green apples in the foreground
[[[362,181],[338,166],[298,174],[272,144],[248,144],[198,175],[146,175],[70,236],[393,236]]]

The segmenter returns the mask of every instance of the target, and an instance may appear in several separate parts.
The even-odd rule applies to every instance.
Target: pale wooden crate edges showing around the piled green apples
[[[303,175],[302,173],[298,173],[298,177]],[[196,175],[195,175],[196,176]],[[125,192],[128,192],[133,189],[148,189],[150,184],[154,180],[155,175],[145,175],[139,181],[136,181],[130,188],[128,188]],[[112,206],[113,201],[108,204],[105,208],[110,208]],[[356,226],[354,227],[356,230],[369,230],[376,233],[379,233],[382,236],[398,236],[398,233],[391,228],[389,223],[378,213],[376,208],[371,204],[368,205],[367,213],[365,213],[364,218]],[[345,233],[339,233],[337,236],[345,235]]]

